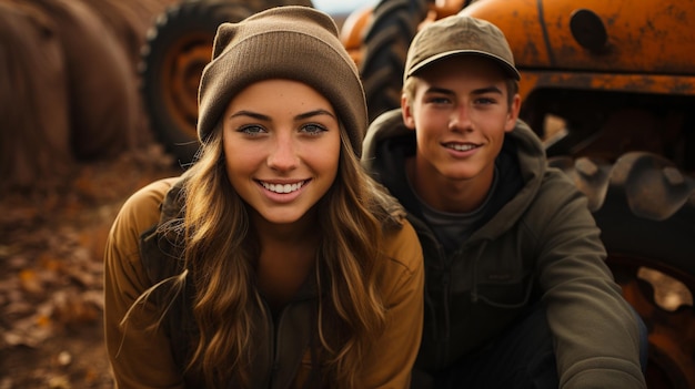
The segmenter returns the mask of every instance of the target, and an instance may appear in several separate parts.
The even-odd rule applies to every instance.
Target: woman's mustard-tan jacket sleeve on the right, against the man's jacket
[[[386,328],[364,360],[364,382],[366,388],[402,389],[410,388],[422,338],[424,264],[417,235],[407,222],[386,237]]]

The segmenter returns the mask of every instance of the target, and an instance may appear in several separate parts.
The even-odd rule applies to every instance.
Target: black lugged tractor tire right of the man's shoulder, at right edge
[[[612,255],[678,278],[695,290],[695,180],[663,156],[631,152],[615,164],[555,157],[588,197]]]

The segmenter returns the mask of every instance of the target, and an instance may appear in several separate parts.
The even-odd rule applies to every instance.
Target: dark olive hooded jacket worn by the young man
[[[446,254],[405,173],[415,132],[401,110],[377,117],[362,163],[409,212],[425,258],[425,325],[416,369],[435,373],[474,352],[536,303],[546,308],[563,388],[645,387],[638,328],[605,264],[585,196],[547,166],[523,122],[505,135],[495,192],[470,237]]]

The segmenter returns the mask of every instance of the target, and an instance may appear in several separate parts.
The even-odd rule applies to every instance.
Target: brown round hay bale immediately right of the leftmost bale
[[[124,48],[82,1],[34,0],[62,42],[75,157],[110,157],[142,131],[135,75]]]

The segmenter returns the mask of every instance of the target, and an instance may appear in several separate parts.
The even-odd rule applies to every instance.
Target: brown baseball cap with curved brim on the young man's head
[[[454,14],[435,20],[415,34],[407,51],[403,81],[435,61],[461,54],[490,58],[508,76],[521,79],[502,30],[486,20]]]

